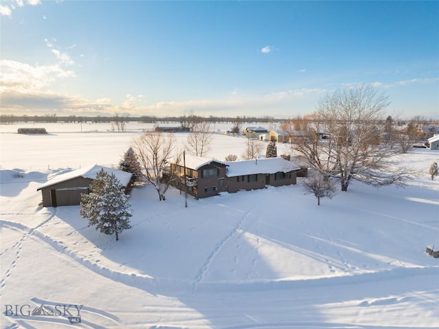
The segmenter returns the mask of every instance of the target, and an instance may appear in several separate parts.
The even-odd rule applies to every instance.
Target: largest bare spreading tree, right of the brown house
[[[337,90],[320,99],[313,117],[302,120],[292,147],[324,178],[340,179],[342,191],[352,180],[403,185],[412,172],[396,167],[394,156],[399,151],[381,145],[377,138],[375,123],[382,120],[387,106],[388,97],[372,86]]]

